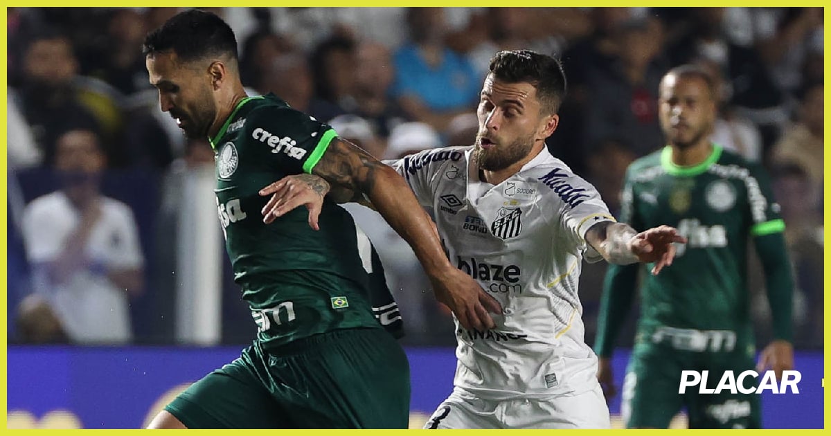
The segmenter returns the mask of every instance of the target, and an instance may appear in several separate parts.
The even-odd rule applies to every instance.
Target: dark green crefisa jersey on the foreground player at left
[[[242,100],[211,139],[216,204],[234,282],[265,345],[343,328],[378,327],[398,335],[401,316],[381,263],[347,211],[329,200],[320,230],[297,208],[263,223],[259,189],[311,173],[336,133],[276,96]]]

